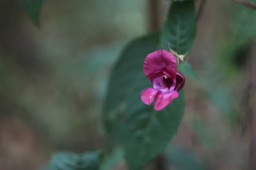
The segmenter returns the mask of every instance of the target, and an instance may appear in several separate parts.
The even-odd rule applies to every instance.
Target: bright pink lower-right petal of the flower
[[[157,111],[162,110],[167,105],[169,105],[169,103],[172,102],[173,99],[177,98],[178,96],[179,93],[177,91],[170,91],[169,93],[157,95],[157,99],[154,102],[154,109]]]

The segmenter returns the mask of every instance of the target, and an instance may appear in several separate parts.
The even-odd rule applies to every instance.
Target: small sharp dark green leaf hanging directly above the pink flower
[[[196,13],[194,0],[173,2],[161,34],[161,47],[168,44],[177,54],[186,54],[194,44],[196,35]]]

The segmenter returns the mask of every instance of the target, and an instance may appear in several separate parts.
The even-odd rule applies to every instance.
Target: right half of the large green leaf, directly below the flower
[[[154,111],[153,105],[145,105],[140,99],[141,91],[151,86],[150,80],[140,75],[131,87],[133,96],[127,99],[125,159],[131,170],[143,169],[151,159],[162,153],[177,133],[183,118],[183,90],[165,109]]]

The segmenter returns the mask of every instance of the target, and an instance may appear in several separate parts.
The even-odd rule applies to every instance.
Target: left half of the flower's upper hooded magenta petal
[[[143,68],[148,79],[153,79],[163,74],[165,62],[163,61],[162,51],[154,51],[145,58]]]

